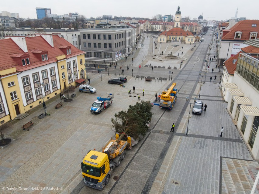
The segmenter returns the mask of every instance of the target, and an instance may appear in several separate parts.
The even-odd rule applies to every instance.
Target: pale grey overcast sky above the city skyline
[[[227,20],[235,16],[247,19],[258,19],[258,0],[185,0],[185,1],[154,1],[154,0],[12,0],[3,1],[1,11],[19,13],[20,18],[37,18],[36,7],[50,8],[52,14],[63,15],[69,12],[78,12],[86,18],[101,15],[129,16],[152,18],[156,14],[175,15],[178,5],[181,16],[190,16],[191,19],[198,18],[203,14],[203,19]]]

